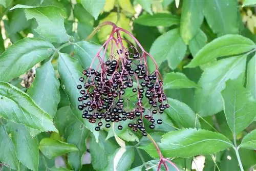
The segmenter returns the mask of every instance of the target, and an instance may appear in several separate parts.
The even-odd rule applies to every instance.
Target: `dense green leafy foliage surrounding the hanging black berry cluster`
[[[204,155],[204,170],[253,170],[255,4],[1,0],[0,169],[156,170],[147,138],[127,129],[95,132],[76,109],[82,67],[111,27],[84,39],[110,20],[132,32],[160,66],[172,107],[148,132],[163,155],[180,169]],[[57,156],[66,168],[55,167]]]

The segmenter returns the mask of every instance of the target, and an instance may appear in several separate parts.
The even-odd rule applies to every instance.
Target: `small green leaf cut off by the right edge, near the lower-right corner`
[[[241,144],[239,145],[242,148],[248,149],[256,149],[256,130],[248,133],[243,139]]]

